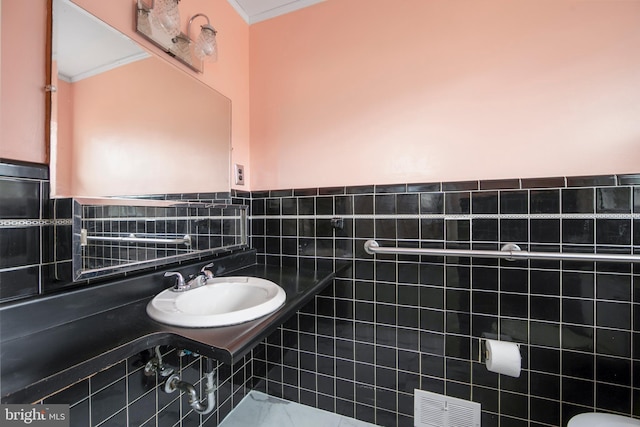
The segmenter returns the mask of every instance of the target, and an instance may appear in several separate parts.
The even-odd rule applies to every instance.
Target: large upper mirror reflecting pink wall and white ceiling
[[[70,0],[52,29],[54,197],[229,191],[228,98]]]

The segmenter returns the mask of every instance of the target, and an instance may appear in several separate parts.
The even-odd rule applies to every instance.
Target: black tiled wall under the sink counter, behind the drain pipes
[[[205,358],[164,346],[160,350],[165,366],[193,384],[198,396],[204,398]],[[164,377],[145,374],[152,353],[148,350],[123,360],[41,403],[68,404],[72,427],[210,427],[217,426],[251,390],[251,356],[233,366],[214,362],[216,408],[200,415],[188,405],[183,393],[164,391]]]

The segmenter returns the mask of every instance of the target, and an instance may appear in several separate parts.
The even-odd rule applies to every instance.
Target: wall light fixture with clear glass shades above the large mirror
[[[203,72],[205,61],[218,59],[218,32],[205,14],[197,13],[189,19],[187,34],[182,33],[179,1],[152,0],[149,6],[143,0],[138,0],[136,31],[190,68]],[[200,34],[194,41],[191,38],[191,25],[196,18],[204,18],[206,24],[200,27]]]

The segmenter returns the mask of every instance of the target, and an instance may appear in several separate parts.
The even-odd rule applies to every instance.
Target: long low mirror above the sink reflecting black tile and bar
[[[247,206],[189,201],[73,199],[73,280],[247,247]]]

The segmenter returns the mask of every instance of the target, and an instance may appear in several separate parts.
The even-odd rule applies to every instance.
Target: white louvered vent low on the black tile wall
[[[480,404],[423,390],[414,390],[416,427],[480,427]]]

